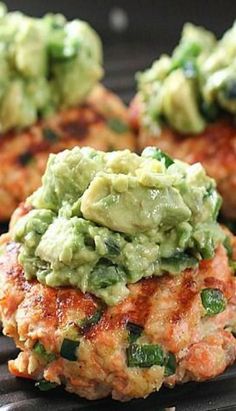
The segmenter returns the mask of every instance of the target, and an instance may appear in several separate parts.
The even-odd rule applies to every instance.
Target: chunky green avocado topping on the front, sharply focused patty
[[[141,278],[197,267],[225,238],[214,180],[152,147],[141,156],[87,147],[51,154],[27,204],[13,229],[26,278],[107,304]]]

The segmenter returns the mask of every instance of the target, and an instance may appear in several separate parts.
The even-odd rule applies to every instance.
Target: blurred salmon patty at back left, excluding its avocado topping
[[[62,111],[22,132],[0,136],[0,221],[8,220],[41,182],[49,153],[74,146],[99,150],[134,149],[127,110],[102,86],[86,102]]]

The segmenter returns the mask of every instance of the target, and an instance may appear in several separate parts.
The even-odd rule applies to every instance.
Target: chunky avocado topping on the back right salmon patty
[[[152,133],[165,125],[201,133],[225,113],[236,114],[236,23],[217,41],[202,27],[184,25],[171,56],[137,75],[141,121]]]

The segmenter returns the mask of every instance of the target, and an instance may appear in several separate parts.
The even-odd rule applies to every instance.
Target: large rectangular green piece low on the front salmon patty
[[[126,350],[126,355],[128,367],[149,368],[153,365],[165,364],[164,351],[157,344],[131,344]]]

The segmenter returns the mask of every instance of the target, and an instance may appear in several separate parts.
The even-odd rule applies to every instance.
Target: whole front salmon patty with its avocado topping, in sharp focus
[[[236,240],[220,203],[200,164],[154,147],[51,155],[1,237],[10,371],[121,401],[222,373],[236,359]]]

